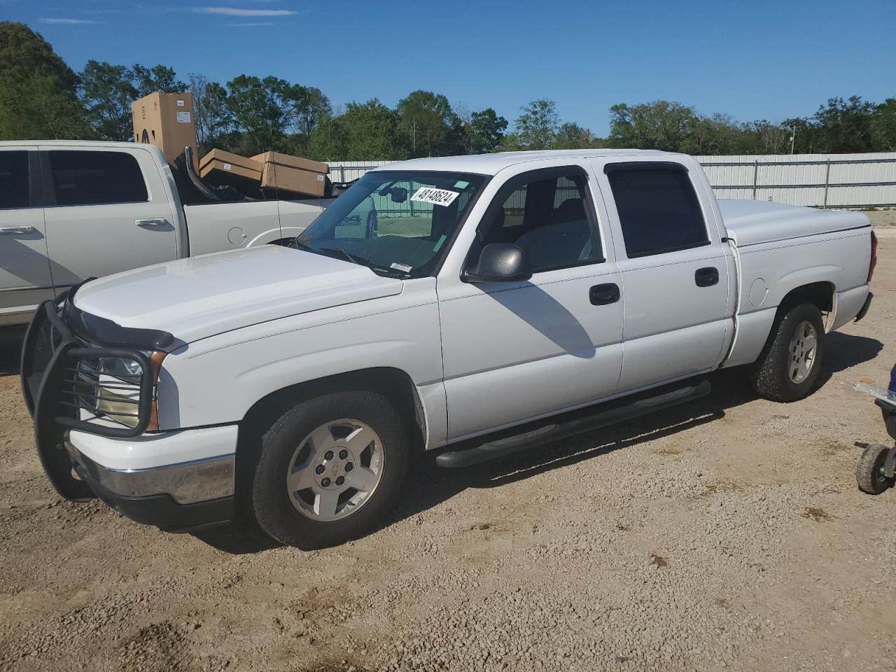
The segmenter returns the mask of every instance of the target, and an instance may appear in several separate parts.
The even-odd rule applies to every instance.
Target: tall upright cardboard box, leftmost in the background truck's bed
[[[146,142],[161,148],[168,163],[193,148],[196,162],[196,125],[192,93],[151,93],[131,103],[134,116],[134,142]]]

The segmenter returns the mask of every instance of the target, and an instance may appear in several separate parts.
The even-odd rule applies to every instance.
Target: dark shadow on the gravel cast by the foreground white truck
[[[880,341],[862,336],[832,333],[828,339],[822,384],[834,373],[874,359],[883,348]],[[379,529],[412,518],[468,488],[502,487],[549,470],[571,466],[585,460],[599,459],[610,452],[643,441],[675,435],[724,418],[728,409],[757,400],[742,369],[719,371],[704,377],[711,381],[712,392],[700,400],[665,409],[621,425],[547,442],[528,451],[518,452],[476,467],[461,470],[440,469],[435,466],[433,455],[419,454],[401,504],[392,515],[383,520],[383,525]],[[278,546],[277,542],[266,537],[254,522],[244,524],[241,528],[233,526],[214,528],[195,534],[211,546],[233,554],[258,553]]]

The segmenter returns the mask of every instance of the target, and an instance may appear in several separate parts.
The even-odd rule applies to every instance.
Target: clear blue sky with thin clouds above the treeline
[[[76,70],[95,58],[183,79],[273,74],[337,106],[435,90],[511,121],[547,98],[597,134],[617,102],[780,121],[833,96],[896,96],[896,0],[0,0],[0,18]]]

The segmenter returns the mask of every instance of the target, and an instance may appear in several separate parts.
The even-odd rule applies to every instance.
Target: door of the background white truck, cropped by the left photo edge
[[[53,297],[37,148],[0,148],[0,325]]]

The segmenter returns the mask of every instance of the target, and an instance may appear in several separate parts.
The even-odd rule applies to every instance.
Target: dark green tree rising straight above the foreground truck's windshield
[[[432,91],[411,91],[396,108],[401,129],[410,140],[410,155],[444,156],[456,147],[457,115],[448,99]]]

